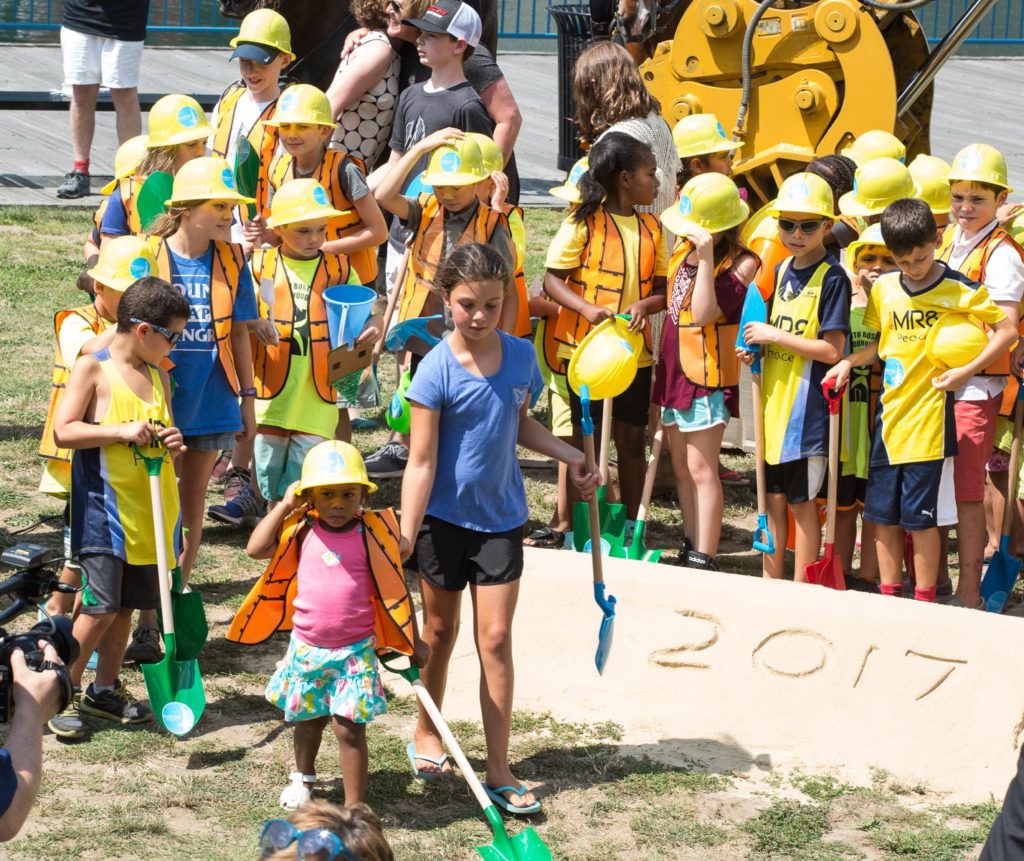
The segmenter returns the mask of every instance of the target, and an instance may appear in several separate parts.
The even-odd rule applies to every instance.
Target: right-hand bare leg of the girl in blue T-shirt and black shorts
[[[643,428],[639,429],[641,432]],[[487,784],[519,786],[509,767],[509,734],[512,728],[512,615],[519,597],[519,580],[490,586],[470,586],[473,599],[473,637],[480,659],[480,713],[487,740]],[[516,807],[528,807],[531,792],[506,793]]]

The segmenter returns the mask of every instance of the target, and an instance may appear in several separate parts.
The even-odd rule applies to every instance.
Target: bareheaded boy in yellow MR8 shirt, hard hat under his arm
[[[879,336],[839,361],[825,380],[842,386],[851,368],[884,363],[864,519],[876,524],[882,594],[902,595],[906,529],[913,534],[914,598],[934,602],[939,528],[956,520],[950,492],[956,454],[951,393],[1006,353],[1017,330],[984,287],[935,259],[935,218],[928,204],[891,204],[882,216],[882,235],[901,273],[882,275],[868,296],[863,325]],[[994,331],[974,361],[937,374],[923,345],[933,327],[953,312]]]

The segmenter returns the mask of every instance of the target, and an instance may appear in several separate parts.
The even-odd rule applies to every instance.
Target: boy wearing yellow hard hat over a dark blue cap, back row
[[[264,121],[273,117],[281,95],[279,79],[293,59],[292,33],[284,15],[272,9],[256,9],[242,19],[239,35],[231,39],[234,48],[229,59],[239,61],[242,76],[227,86],[213,106],[213,137],[210,153],[233,166],[239,138],[249,140],[252,152],[260,161],[256,180],[256,212],[265,214],[268,204],[267,170],[278,149],[278,131]],[[247,213],[239,212],[238,216]],[[231,224],[231,242],[245,242],[244,224],[240,217]]]

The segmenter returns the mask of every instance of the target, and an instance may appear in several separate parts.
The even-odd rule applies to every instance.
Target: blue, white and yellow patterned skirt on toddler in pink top
[[[367,724],[387,712],[376,642],[371,636],[340,649],[322,649],[293,634],[264,696],[288,723],[334,716]]]

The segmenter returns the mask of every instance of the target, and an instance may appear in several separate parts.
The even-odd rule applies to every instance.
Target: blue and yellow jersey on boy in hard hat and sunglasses
[[[768,321],[776,329],[818,340],[826,332],[850,331],[850,281],[833,257],[797,269],[793,258],[775,272]],[[765,415],[765,461],[786,464],[822,456],[827,448],[828,410],[821,381],[828,365],[777,344],[765,345],[761,401]]]

